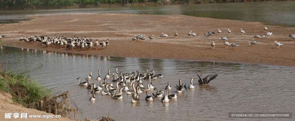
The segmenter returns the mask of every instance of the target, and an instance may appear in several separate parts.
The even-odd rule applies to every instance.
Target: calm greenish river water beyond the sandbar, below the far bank
[[[36,14],[70,13],[135,13],[160,15],[188,15],[216,19],[260,21],[265,24],[295,27],[295,1],[269,1],[222,4],[181,4],[87,9],[37,9],[0,11],[0,20],[19,19]]]

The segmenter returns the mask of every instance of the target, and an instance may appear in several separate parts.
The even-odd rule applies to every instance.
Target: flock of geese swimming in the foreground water
[[[148,70],[145,70],[146,73],[141,73],[139,71],[136,71],[137,74],[135,74],[135,72],[132,73],[126,73],[123,74],[122,72],[118,73],[118,68],[116,69],[116,73],[114,74],[110,74],[110,69],[108,70],[108,73],[104,76],[104,83],[102,83],[101,80],[102,77],[100,76],[100,71],[98,70],[98,77],[96,77],[96,80],[99,81],[99,85],[96,84],[90,84],[89,83],[89,79],[94,78],[94,76],[92,75],[92,71],[90,72],[90,75],[87,76],[86,78],[86,82],[81,82],[81,78],[77,78],[79,79],[79,86],[87,86],[87,89],[91,89],[91,94],[92,97],[90,97],[90,101],[96,101],[96,97],[95,94],[99,94],[101,93],[101,95],[111,95],[113,99],[122,99],[122,94],[123,92],[125,92],[127,95],[132,95],[132,99],[131,99],[131,103],[137,103],[140,102],[140,93],[145,92],[146,93],[146,97],[145,100],[146,101],[153,101],[154,97],[162,97],[161,102],[170,102],[169,99],[176,99],[177,98],[177,94],[172,94],[169,95],[169,91],[171,91],[171,86],[169,85],[170,82],[168,82],[168,85],[165,87],[164,90],[167,90],[167,94],[165,95],[165,91],[164,90],[160,90],[158,93],[158,89],[155,88],[154,86],[154,81],[151,80],[151,82],[148,83],[147,87],[144,87],[142,84],[142,79],[146,80],[146,79],[156,79],[158,77],[163,77],[163,74],[155,74],[155,71],[152,70],[151,72],[153,72],[152,74],[149,73]],[[211,80],[215,79],[218,74],[209,74],[208,76],[206,76],[205,78],[201,77],[201,71],[199,71],[199,74],[197,73],[197,76],[199,77],[199,84],[200,85],[206,85],[208,84]],[[113,79],[111,78],[111,75],[113,77]],[[108,80],[111,80],[108,82]],[[194,89],[195,86],[193,84],[193,80],[194,78],[191,78],[191,84],[189,85],[189,89]],[[184,89],[186,89],[186,82],[181,84],[181,79],[179,79],[179,85],[178,84],[174,84],[174,87],[176,88],[176,92],[177,93],[181,93],[183,92]],[[135,88],[135,83],[137,83],[137,86]],[[115,86],[113,86],[113,84],[115,84]],[[119,85],[122,85],[122,87],[119,87]],[[132,89],[129,89],[129,87],[132,87]],[[149,95],[148,92],[150,90],[156,90],[156,94],[152,94]]]

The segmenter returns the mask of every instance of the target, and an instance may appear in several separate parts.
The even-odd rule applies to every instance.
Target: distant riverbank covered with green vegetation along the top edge
[[[229,3],[229,2],[256,2],[276,0],[1,0],[2,10],[25,9],[73,9],[73,8],[98,8],[98,7],[123,7],[123,6],[149,6],[163,4],[204,4],[204,3]]]

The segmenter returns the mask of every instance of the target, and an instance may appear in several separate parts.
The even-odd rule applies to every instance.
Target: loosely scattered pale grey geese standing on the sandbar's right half
[[[264,32],[267,32],[268,27],[264,27],[263,29],[265,30]],[[230,29],[227,29],[227,32],[228,32],[228,35],[230,35],[230,34],[232,33],[232,31],[231,31]],[[246,32],[245,32],[244,30],[242,30],[242,29],[240,30],[240,32],[242,33],[242,35],[244,35],[244,34],[246,33]],[[221,35],[222,30],[218,29],[218,30],[217,30],[217,33],[218,33],[219,35]],[[205,33],[204,36],[205,36],[206,38],[208,38],[208,37],[211,37],[211,36],[214,35],[214,34],[215,34],[214,32],[208,32],[208,33]],[[263,38],[263,37],[265,37],[265,36],[267,36],[267,38],[268,38],[268,37],[271,38],[271,35],[272,35],[272,34],[273,34],[273,32],[267,32],[267,33],[264,34],[263,36],[257,34],[257,35],[255,35],[254,37],[252,37],[252,40],[254,40],[254,38],[256,38],[257,40],[256,40],[256,41],[252,41],[252,42],[250,42],[249,44],[254,44],[253,47],[257,47],[257,44],[260,43],[260,42],[258,42],[260,38]],[[193,36],[193,38],[195,38],[196,36],[199,36],[199,35],[197,35],[196,33],[193,33],[191,30],[189,30],[189,34],[188,34],[188,35],[189,35],[189,37]],[[160,37],[161,37],[162,39],[166,39],[168,36],[169,36],[169,34],[164,34],[164,33],[162,33],[162,34],[160,35]],[[174,37],[177,38],[177,36],[178,36],[178,33],[176,32],[176,33],[174,34]],[[294,35],[294,34],[289,35],[289,37],[293,38],[293,41],[295,41],[295,35]],[[152,35],[152,36],[149,37],[149,38],[150,38],[150,40],[152,41],[153,38],[154,38],[154,35]],[[226,48],[227,48],[228,46],[232,46],[232,47],[234,47],[234,49],[235,49],[235,47],[237,47],[237,49],[238,49],[238,46],[240,46],[240,45],[237,44],[237,43],[232,44],[232,43],[230,43],[230,42],[227,42],[227,39],[230,39],[230,38],[228,38],[228,37],[220,37],[219,39],[224,40],[223,44],[226,45]],[[141,40],[141,42],[142,42],[142,40],[143,40],[143,42],[145,42],[145,35],[142,36],[142,34],[138,34],[137,36],[133,37],[132,40],[133,40],[133,42],[136,41],[136,40],[137,40],[137,41],[140,41],[140,40]],[[213,42],[211,43],[212,49],[215,49],[215,45],[216,45],[216,44],[215,44],[214,41],[213,41]],[[276,48],[280,48],[280,46],[283,45],[283,43],[280,43],[280,42],[275,41],[275,45],[278,46],[278,47],[276,47]]]

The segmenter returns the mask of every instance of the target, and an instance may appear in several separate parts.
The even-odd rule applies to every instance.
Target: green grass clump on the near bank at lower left
[[[40,67],[36,69],[40,69]],[[21,70],[19,72],[17,69],[9,71],[0,70],[0,89],[11,94],[14,103],[22,105],[37,102],[46,95],[52,96],[50,89],[39,84],[37,79],[32,79],[26,74],[27,72],[30,71]]]

